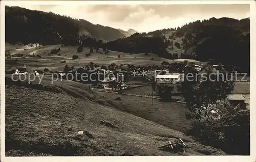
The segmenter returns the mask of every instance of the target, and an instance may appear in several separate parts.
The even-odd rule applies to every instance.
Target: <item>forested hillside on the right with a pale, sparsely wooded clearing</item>
[[[250,68],[250,20],[210,18],[190,22],[177,29],[136,33],[105,43],[122,52],[153,52],[168,59],[196,59],[234,65],[243,72]]]

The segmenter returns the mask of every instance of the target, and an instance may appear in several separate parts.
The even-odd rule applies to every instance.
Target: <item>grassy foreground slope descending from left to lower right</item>
[[[172,155],[158,146],[182,138],[181,155],[225,155],[183,133],[110,107],[62,93],[6,87],[7,156]],[[100,124],[113,122],[117,128]],[[79,136],[77,131],[83,130]]]

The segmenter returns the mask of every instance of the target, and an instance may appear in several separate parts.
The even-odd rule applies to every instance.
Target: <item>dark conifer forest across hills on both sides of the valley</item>
[[[166,50],[176,46],[185,52],[181,55],[207,62],[215,60],[234,65],[249,73],[250,19],[215,18],[195,21],[177,29],[169,28],[149,33],[135,33],[125,37],[119,30],[92,24],[54,13],[31,11],[6,6],[6,42],[65,44],[94,46],[129,53],[155,53],[159,57],[178,59],[177,53]],[[168,38],[164,33],[172,31]],[[182,42],[173,42],[181,38]],[[180,57],[182,58],[182,57]],[[190,57],[188,57],[190,58]]]

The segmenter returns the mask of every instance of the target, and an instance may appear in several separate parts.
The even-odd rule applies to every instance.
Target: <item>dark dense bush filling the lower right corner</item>
[[[226,153],[250,155],[249,111],[228,110],[218,120],[195,122],[187,133]]]

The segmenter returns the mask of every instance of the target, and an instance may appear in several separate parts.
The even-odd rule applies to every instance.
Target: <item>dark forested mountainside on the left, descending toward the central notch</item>
[[[41,43],[42,45],[77,45],[81,36],[103,41],[125,37],[119,30],[92,24],[54,13],[32,11],[20,7],[5,8],[5,35],[8,43]]]

